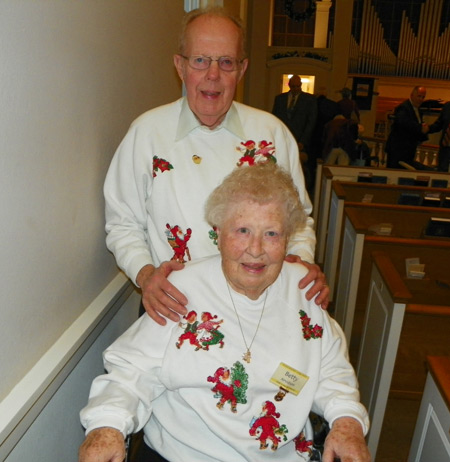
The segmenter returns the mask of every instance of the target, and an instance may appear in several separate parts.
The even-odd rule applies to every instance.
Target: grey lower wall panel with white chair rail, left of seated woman
[[[0,444],[1,461],[78,460],[78,448],[84,440],[79,412],[87,403],[92,379],[104,371],[102,352],[138,316],[139,294],[132,290],[131,284],[127,283],[124,276],[115,279],[82,316],[82,322],[71,326],[66,331],[64,339],[54,345],[54,351],[47,352],[46,356],[49,357],[44,358],[47,365],[45,369],[48,369],[49,363],[52,362],[50,358],[58,358],[61,350],[69,354],[66,355],[63,364],[60,364],[61,367],[55,371],[53,380],[45,389],[39,390],[41,394],[32,400],[32,406],[18,410],[18,414],[22,414],[19,423],[9,426],[11,431]],[[78,342],[80,336],[83,340]],[[75,340],[75,348],[71,339]],[[28,374],[28,380],[25,382],[28,382],[29,386],[23,384],[20,390],[22,393],[8,397],[7,401],[12,402],[10,407],[16,407],[23,395],[33,391],[39,382],[39,369],[42,368]],[[0,404],[2,430],[5,414],[10,414],[9,409],[4,409],[4,404],[5,401]],[[8,432],[0,432],[6,433]]]

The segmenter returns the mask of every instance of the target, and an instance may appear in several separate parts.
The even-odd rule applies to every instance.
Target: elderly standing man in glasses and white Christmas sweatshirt
[[[203,216],[209,193],[236,165],[271,159],[293,176],[309,214],[294,138],[278,119],[233,102],[247,69],[240,22],[220,8],[185,17],[174,56],[186,97],[148,111],[130,127],[109,168],[107,246],[120,268],[142,289],[142,303],[158,323],[186,314],[185,295],[167,280],[181,262],[217,254],[217,238]],[[312,219],[292,236],[290,260],[309,268],[300,288],[326,308],[329,289],[313,264]],[[177,314],[178,313],[178,314]],[[162,315],[162,316],[161,316]]]

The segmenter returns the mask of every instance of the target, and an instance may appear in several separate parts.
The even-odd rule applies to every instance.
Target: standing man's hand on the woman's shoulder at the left
[[[179,315],[187,313],[187,298],[167,280],[172,271],[183,268],[182,263],[170,260],[163,262],[158,268],[146,265],[136,277],[136,283],[142,290],[145,311],[161,326],[166,324],[166,318],[178,322]]]

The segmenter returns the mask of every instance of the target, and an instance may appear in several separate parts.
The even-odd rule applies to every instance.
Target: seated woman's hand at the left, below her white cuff
[[[78,462],[123,462],[125,441],[119,430],[102,427],[92,430],[80,446]]]

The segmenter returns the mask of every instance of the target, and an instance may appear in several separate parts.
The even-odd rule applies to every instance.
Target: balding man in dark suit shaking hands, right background
[[[403,168],[399,162],[412,165],[417,146],[428,138],[428,126],[423,123],[419,111],[426,94],[425,87],[416,86],[409,99],[395,108],[394,122],[385,149],[388,168]]]

